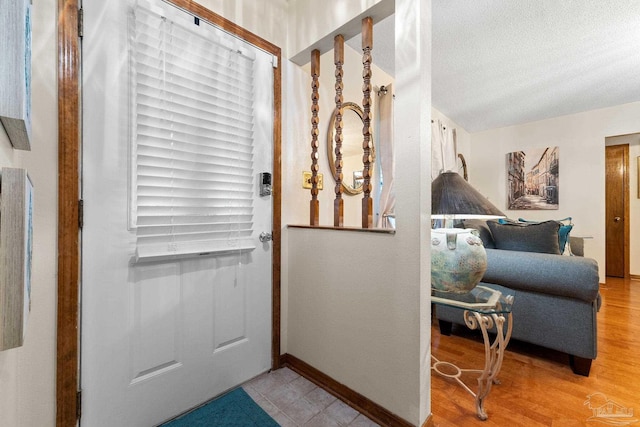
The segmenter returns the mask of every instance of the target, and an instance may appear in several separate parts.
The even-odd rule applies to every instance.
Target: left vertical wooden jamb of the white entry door
[[[78,0],[58,0],[58,310],[56,426],[79,413],[80,43]]]

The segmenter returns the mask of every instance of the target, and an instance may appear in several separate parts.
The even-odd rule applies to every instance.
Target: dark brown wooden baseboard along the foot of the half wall
[[[377,403],[369,400],[357,391],[350,389],[344,384],[340,384],[330,376],[324,374],[308,363],[298,359],[291,354],[283,354],[280,356],[280,366],[288,367],[291,370],[302,375],[318,387],[331,393],[338,399],[342,400],[361,414],[366,415],[372,421],[389,427],[411,427],[413,424],[403,418],[393,414]],[[431,417],[425,421],[425,427],[432,427],[434,424],[428,424]]]

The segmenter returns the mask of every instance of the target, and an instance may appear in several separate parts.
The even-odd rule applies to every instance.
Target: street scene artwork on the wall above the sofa
[[[558,209],[558,147],[507,153],[507,209]]]

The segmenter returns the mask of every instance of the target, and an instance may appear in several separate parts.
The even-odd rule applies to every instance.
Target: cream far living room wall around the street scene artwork
[[[598,262],[600,281],[604,282],[605,138],[639,132],[638,117],[640,103],[636,102],[471,134],[470,182],[509,217],[549,219],[571,216],[575,224],[573,235],[593,237],[593,240],[585,242],[585,256]],[[506,154],[549,146],[560,148],[559,209],[507,210]],[[637,148],[634,152],[637,153]],[[631,158],[634,159],[633,155]],[[637,177],[633,174],[633,167],[630,177]],[[631,217],[637,217],[637,200],[632,200],[632,209]],[[639,237],[636,224],[632,228],[631,241],[638,241]],[[638,248],[633,244],[632,248],[632,253],[637,254]],[[637,261],[632,261],[631,273],[638,274]]]

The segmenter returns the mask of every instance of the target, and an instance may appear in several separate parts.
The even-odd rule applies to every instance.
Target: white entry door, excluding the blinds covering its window
[[[141,260],[131,221],[131,3],[83,1],[80,422],[87,427],[157,425],[266,372],[271,362],[272,253],[259,235],[271,232],[272,200],[260,195],[258,182],[273,168],[271,55],[149,2],[200,37],[213,31],[223,44],[251,49],[257,101],[251,231],[242,249]]]

